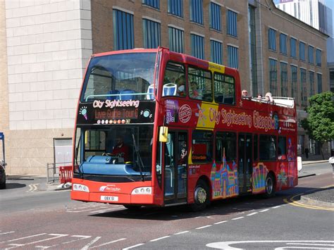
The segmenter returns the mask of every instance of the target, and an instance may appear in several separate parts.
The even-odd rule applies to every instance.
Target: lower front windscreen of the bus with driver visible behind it
[[[77,127],[75,137],[76,173],[151,174],[153,125]]]

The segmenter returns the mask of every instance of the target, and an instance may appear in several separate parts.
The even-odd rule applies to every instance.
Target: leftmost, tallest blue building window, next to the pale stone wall
[[[113,9],[113,49],[134,48],[133,15]]]

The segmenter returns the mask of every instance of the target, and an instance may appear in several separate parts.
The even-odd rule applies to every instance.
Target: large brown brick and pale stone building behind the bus
[[[92,53],[161,45],[238,68],[252,95],[294,97],[299,119],[307,96],[328,90],[328,36],[272,1],[6,0],[0,7],[9,174],[45,174],[47,163],[68,161]],[[300,130],[300,150],[304,137]]]

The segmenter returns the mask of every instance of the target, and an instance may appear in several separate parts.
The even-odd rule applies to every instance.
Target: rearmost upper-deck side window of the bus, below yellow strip
[[[230,75],[214,74],[214,101],[235,104],[235,80]]]

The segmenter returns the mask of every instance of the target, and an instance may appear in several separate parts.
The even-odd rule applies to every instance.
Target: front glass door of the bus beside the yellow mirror
[[[164,202],[178,204],[187,201],[187,132],[168,131],[164,151]]]

